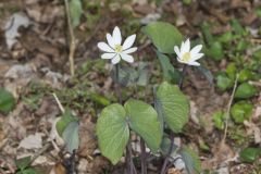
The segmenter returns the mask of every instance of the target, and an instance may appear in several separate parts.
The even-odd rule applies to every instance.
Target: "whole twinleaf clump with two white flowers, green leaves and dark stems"
[[[127,37],[123,42],[121,30],[116,26],[112,35],[107,34],[108,44],[98,44],[98,48],[105,52],[101,58],[110,59],[114,65],[112,77],[115,82],[115,94],[117,94],[117,103],[105,107],[98,116],[97,136],[101,153],[113,164],[116,164],[125,154],[127,173],[137,173],[132,160],[130,146],[130,135],[136,134],[150,149],[150,156],[162,153],[164,157],[161,174],[167,172],[169,163],[173,162],[172,159],[176,154],[183,158],[188,173],[199,173],[200,162],[197,154],[187,147],[174,145],[174,135],[182,133],[189,120],[189,100],[182,91],[183,80],[188,65],[200,66],[198,60],[203,57],[200,52],[202,45],[191,48],[189,39],[182,41],[183,36],[178,29],[164,22],[148,24],[142,32],[154,45],[163,71],[164,80],[161,84],[154,84],[153,107],[140,99],[125,100],[121,92],[123,86],[137,85],[137,79],[142,76],[142,73],[135,71],[132,66],[126,67],[120,64],[121,60],[127,63],[134,62],[134,57],[129,53],[137,50],[137,47],[132,47],[136,35]],[[171,63],[172,59],[184,64],[182,71]],[[141,150],[142,174],[147,173],[145,153]]]

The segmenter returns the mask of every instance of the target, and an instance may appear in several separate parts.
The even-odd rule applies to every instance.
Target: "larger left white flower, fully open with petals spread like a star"
[[[122,35],[121,30],[117,26],[113,29],[112,35],[107,34],[107,41],[105,42],[98,42],[98,48],[107,53],[101,55],[101,59],[111,59],[112,64],[116,64],[123,59],[126,62],[133,63],[134,58],[129,55],[137,50],[137,47],[133,47],[135,41],[136,35],[128,36],[126,40],[122,45]]]

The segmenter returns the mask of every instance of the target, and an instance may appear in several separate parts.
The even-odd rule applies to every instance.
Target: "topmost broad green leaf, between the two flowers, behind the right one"
[[[174,46],[179,46],[183,40],[179,30],[165,22],[150,23],[142,30],[162,53],[174,53]]]

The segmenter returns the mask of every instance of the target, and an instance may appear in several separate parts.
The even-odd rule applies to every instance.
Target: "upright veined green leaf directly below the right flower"
[[[188,122],[189,102],[175,85],[162,83],[157,91],[157,102],[161,104],[164,122],[175,133]]]

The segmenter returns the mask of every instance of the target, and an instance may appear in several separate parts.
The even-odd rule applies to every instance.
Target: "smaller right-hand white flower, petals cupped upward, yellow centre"
[[[187,39],[185,42],[182,42],[181,50],[177,46],[174,47],[174,51],[177,54],[177,61],[181,63],[199,66],[200,63],[196,62],[203,57],[203,53],[200,53],[202,45],[198,45],[190,50],[190,41]]]

